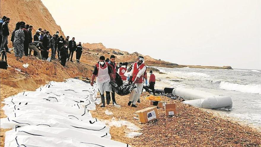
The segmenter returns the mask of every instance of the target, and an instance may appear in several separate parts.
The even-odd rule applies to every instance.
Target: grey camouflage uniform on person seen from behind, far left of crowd
[[[24,49],[23,49],[23,42],[25,40],[24,38],[24,32],[19,29],[15,31],[15,37],[14,37],[14,46],[15,46],[15,56],[22,58]]]

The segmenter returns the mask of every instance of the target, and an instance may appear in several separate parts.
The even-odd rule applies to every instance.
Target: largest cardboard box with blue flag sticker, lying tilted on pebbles
[[[139,114],[139,119],[142,124],[159,118],[159,114],[158,114],[156,106],[148,107],[148,108],[136,111],[135,113]]]

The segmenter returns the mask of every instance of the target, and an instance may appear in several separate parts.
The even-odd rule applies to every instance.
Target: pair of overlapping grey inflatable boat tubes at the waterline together
[[[209,92],[181,87],[173,89],[172,94],[182,97],[185,100],[183,102],[184,104],[188,104],[198,108],[232,108],[232,99],[229,96],[219,96],[217,94],[212,94]]]

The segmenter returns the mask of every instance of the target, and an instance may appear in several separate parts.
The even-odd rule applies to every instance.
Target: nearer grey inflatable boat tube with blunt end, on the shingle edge
[[[206,99],[194,99],[187,100],[183,102],[198,108],[206,109],[219,109],[219,108],[232,108],[232,99],[228,96],[218,96],[218,97],[207,97]]]

